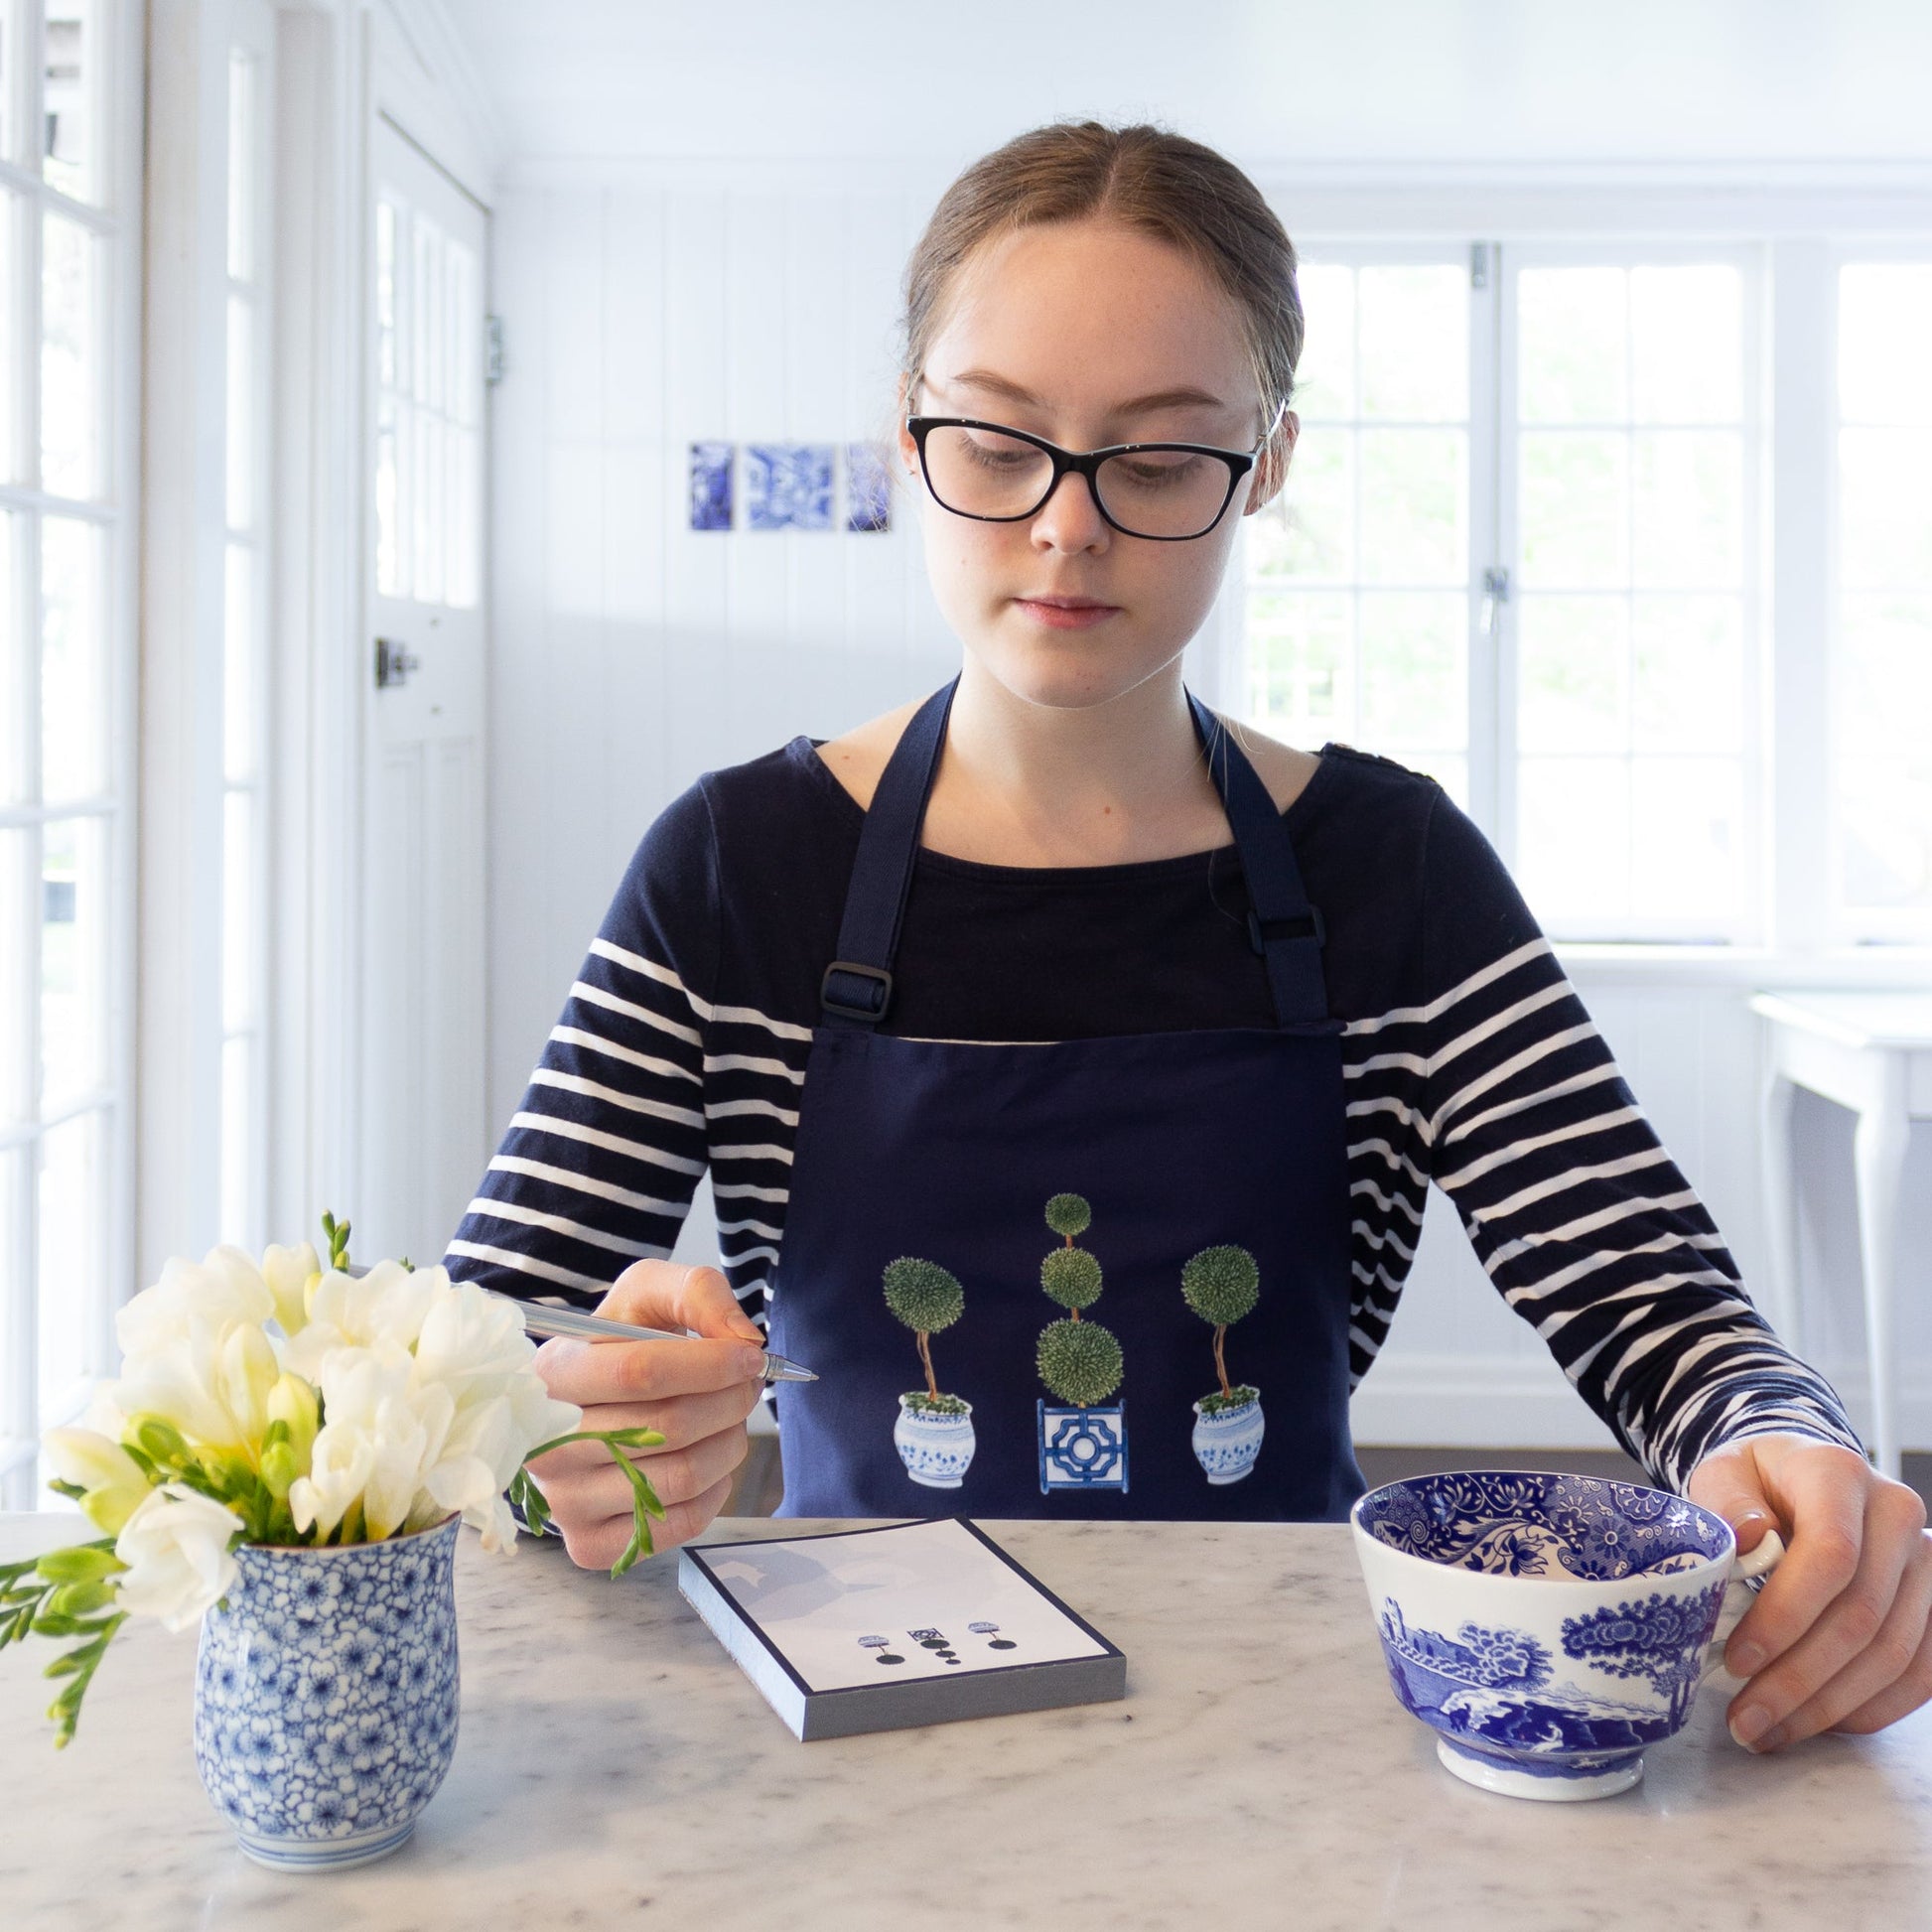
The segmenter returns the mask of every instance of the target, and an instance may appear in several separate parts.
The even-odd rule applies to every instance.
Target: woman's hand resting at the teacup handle
[[[1878,1731],[1932,1698],[1932,1536],[1917,1492],[1855,1449],[1748,1435],[1690,1472],[1685,1495],[1785,1557],[1731,1633],[1725,1669],[1748,1683],[1725,1714],[1752,1750],[1816,1731]]]

